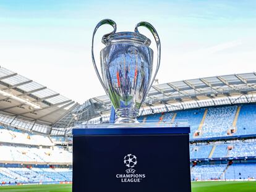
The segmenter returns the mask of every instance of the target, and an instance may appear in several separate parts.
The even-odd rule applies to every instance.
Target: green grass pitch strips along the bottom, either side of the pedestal
[[[71,192],[72,186],[63,185],[22,185],[1,186],[0,192]],[[170,189],[171,191],[171,189]],[[192,192],[252,192],[256,182],[193,182]]]

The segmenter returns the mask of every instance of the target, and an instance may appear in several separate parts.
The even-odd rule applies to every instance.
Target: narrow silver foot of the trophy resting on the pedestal
[[[114,123],[139,123],[136,119],[139,109],[119,108],[116,109],[117,119]]]

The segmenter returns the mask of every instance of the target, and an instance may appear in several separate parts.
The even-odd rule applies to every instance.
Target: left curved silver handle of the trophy
[[[97,68],[97,65],[96,65],[96,62],[95,62],[95,59],[94,59],[94,53],[93,53],[93,44],[94,44],[94,36],[95,36],[95,33],[96,31],[98,30],[99,27],[101,27],[101,25],[105,25],[105,24],[109,24],[111,25],[114,30],[111,32],[111,33],[107,33],[106,35],[103,35],[103,38],[102,38],[102,43],[106,44],[107,41],[106,41],[106,38],[111,35],[112,33],[116,33],[116,23],[111,20],[111,19],[103,19],[101,20],[95,27],[94,31],[93,31],[93,38],[92,38],[92,61],[93,61],[93,67],[95,69],[95,72],[100,80],[100,83],[101,85],[103,86],[104,90],[106,91],[106,93],[108,93],[108,89],[106,88],[105,84],[103,83],[103,80],[100,76],[100,73],[98,71],[98,68]]]

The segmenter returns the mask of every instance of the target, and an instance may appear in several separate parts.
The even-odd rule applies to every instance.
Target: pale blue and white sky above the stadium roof
[[[159,83],[255,72],[256,1],[1,0],[0,65],[82,104],[105,94],[92,64],[102,19],[117,31],[150,22],[161,40]],[[100,67],[103,26],[95,37]],[[139,31],[151,39],[147,29]],[[156,60],[156,56],[155,56]]]

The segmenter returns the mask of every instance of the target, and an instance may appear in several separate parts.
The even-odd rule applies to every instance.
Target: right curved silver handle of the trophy
[[[150,83],[150,87],[148,89],[148,91],[150,90],[151,86],[153,85],[153,82],[156,78],[156,74],[159,70],[159,67],[160,67],[160,59],[161,59],[161,43],[160,43],[160,38],[158,36],[158,33],[156,32],[155,28],[148,22],[139,22],[136,27],[135,27],[135,33],[140,33],[138,31],[138,27],[145,27],[147,28],[148,30],[150,30],[150,32],[152,33],[152,35],[154,36],[155,38],[155,41],[156,41],[156,47],[157,47],[157,65],[156,65],[156,72],[155,72],[155,75],[153,76],[152,80],[151,80],[151,83]]]

